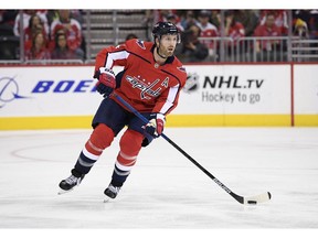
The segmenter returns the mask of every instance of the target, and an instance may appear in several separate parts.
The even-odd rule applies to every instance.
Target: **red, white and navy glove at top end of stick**
[[[116,88],[115,74],[112,69],[100,67],[94,77],[98,79],[96,90],[100,95],[104,95],[104,97],[109,96],[114,88]]]

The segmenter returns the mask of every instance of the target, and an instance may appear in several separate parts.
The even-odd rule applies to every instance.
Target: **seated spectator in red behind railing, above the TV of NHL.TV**
[[[266,15],[265,24],[259,24],[254,33],[254,36],[262,37],[262,36],[282,36],[280,28],[275,24],[275,14],[273,12],[268,12]],[[257,40],[256,41],[256,53],[258,60],[273,61],[273,56],[276,52],[279,51],[282,44],[280,40]],[[261,58],[259,58],[261,57]]]

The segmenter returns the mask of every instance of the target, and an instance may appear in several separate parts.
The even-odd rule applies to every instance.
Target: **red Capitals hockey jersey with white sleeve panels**
[[[123,73],[119,73],[120,85],[115,93],[140,112],[168,115],[178,105],[187,73],[176,56],[168,57],[165,65],[157,64],[153,50],[152,42],[138,39],[104,48],[96,56],[95,71],[124,66]]]

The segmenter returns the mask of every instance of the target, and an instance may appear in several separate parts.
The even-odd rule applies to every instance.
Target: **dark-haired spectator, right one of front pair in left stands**
[[[71,51],[66,43],[65,33],[57,33],[55,35],[55,46],[51,53],[52,60],[83,60],[82,55],[76,55],[74,51]]]

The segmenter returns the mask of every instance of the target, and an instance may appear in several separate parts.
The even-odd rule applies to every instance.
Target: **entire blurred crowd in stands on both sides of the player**
[[[80,10],[23,10],[22,18],[25,60],[85,60]],[[0,10],[0,35],[19,36],[20,21],[18,10]],[[213,39],[229,37],[236,47],[245,36],[290,33],[286,10],[226,10],[223,23],[220,10],[146,10],[145,22],[158,21],[178,26],[182,43],[176,54],[184,62],[201,62],[213,55],[218,44]],[[293,10],[292,23],[293,35],[318,40],[318,10]],[[278,41],[257,42],[256,52],[277,46]],[[232,48],[229,44],[227,51]]]

